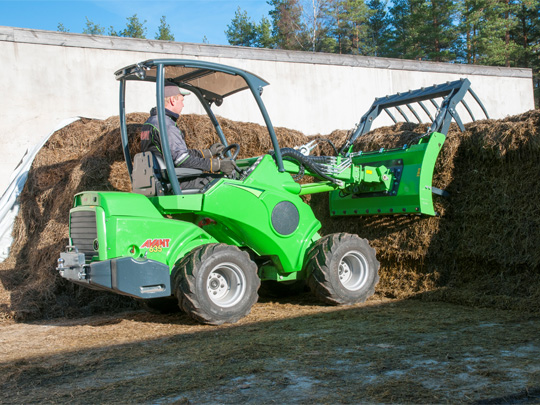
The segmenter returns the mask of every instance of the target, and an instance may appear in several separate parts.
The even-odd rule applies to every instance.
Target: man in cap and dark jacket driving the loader
[[[176,121],[184,108],[184,96],[189,94],[191,93],[174,83],[165,83],[166,127],[174,165],[181,168],[199,169],[209,173],[222,172],[230,175],[234,170],[231,159],[217,157],[225,148],[221,143],[215,143],[209,149],[203,150],[188,149],[186,146],[184,135],[176,126]],[[141,152],[152,152],[158,160],[163,161],[156,107],[152,108],[150,117],[141,128]],[[180,187],[182,189],[202,188],[216,177],[220,176],[204,174],[196,178],[184,179],[180,182]]]

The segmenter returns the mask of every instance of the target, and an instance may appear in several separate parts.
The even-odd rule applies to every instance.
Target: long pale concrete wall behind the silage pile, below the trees
[[[534,108],[530,69],[170,43],[2,26],[0,55],[0,108],[5,130],[0,195],[25,151],[61,120],[117,115],[118,83],[113,73],[156,57],[202,59],[263,77],[270,82],[263,100],[274,125],[305,134],[352,128],[377,96],[461,77],[471,80],[492,118]],[[153,86],[129,83],[127,90],[129,112],[149,111],[155,104]],[[202,113],[192,100],[186,100],[184,112]],[[263,122],[247,94],[228,98],[215,112],[233,120]],[[478,109],[474,112],[476,117],[481,116]],[[387,119],[377,122],[389,123]]]

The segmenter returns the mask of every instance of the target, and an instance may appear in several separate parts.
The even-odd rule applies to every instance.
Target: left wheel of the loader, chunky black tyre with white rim
[[[199,322],[237,322],[259,298],[257,266],[236,246],[198,247],[182,259],[178,271],[175,287],[180,306]]]

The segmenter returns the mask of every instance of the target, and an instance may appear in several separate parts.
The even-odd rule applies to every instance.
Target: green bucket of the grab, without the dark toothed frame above
[[[432,199],[432,177],[437,156],[446,136],[434,132],[416,145],[353,157],[354,165],[380,176],[380,181],[362,182],[348,189],[330,193],[330,214],[435,215]],[[389,170],[389,167],[392,170]],[[383,168],[382,171],[377,168]],[[384,173],[383,173],[384,172]],[[383,177],[386,174],[387,180]]]

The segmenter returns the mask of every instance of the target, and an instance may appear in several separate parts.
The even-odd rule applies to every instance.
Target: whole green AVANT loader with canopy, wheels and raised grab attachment
[[[75,283],[128,295],[155,309],[179,306],[208,324],[246,316],[261,281],[291,288],[307,282],[319,299],[334,305],[371,296],[379,280],[375,250],[358,235],[319,235],[321,223],[301,197],[330,193],[332,216],[435,215],[432,194],[442,193],[432,186],[435,161],[451,121],[463,128],[456,106],[463,103],[474,120],[464,100],[470,93],[484,110],[466,79],[378,98],[346,142],[334,147],[335,156],[311,156],[314,142],[279,146],[261,98],[268,83],[252,73],[204,61],[154,59],[115,75],[132,192],[88,191],[74,197],[69,246],[57,269]],[[133,81],[155,83],[163,160],[150,152],[130,155],[125,93]],[[172,161],[165,81],[200,101],[225,146],[223,154],[235,161],[232,175],[202,189],[181,189],[179,179],[201,172],[177,168]],[[265,155],[237,159],[241,145],[227,143],[212,111],[241,91],[251,92],[266,123],[273,150]],[[416,144],[353,152],[355,140],[382,112],[408,121],[404,106],[418,121],[419,112],[431,121]],[[300,184],[302,176],[315,180]]]

